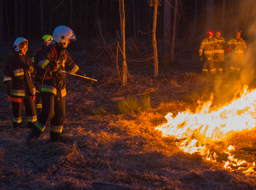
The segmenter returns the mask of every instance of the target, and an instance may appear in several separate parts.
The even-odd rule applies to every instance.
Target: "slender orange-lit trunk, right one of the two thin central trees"
[[[154,17],[153,17],[153,29],[152,29],[152,42],[154,47],[154,77],[158,77],[158,56],[157,56],[157,39],[156,39],[156,27],[157,27],[157,6],[158,0],[154,1]]]

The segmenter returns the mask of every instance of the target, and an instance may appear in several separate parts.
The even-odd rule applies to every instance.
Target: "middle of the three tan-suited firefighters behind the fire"
[[[223,37],[221,37],[221,32],[217,31],[216,36],[213,38],[214,40],[214,67],[217,67],[217,71],[219,75],[222,75],[223,73],[223,67],[224,67],[224,49],[223,45],[225,43],[225,40]]]

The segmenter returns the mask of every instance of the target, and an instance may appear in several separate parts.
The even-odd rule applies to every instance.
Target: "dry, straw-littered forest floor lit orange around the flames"
[[[71,56],[77,65],[84,62],[83,52]],[[166,122],[169,112],[176,116],[188,108],[195,111],[200,97],[206,101],[213,92],[213,104],[224,104],[239,89],[240,80],[198,74],[203,63],[191,57],[182,56],[176,67],[160,67],[156,79],[152,60],[131,62],[127,85],[121,86],[116,63],[91,64],[94,58],[87,56],[79,67],[98,81],[86,84],[67,75],[61,143],[50,142],[48,124],[38,139],[26,144],[31,129],[26,127],[25,112],[22,128],[13,129],[11,102],[0,91],[0,189],[256,189],[255,172],[231,171],[222,160],[184,153],[180,139],[163,137],[155,129]],[[120,100],[127,96],[140,100],[149,91],[151,108],[118,113]],[[96,114],[98,109],[103,113]],[[255,132],[234,133],[227,139],[236,147],[231,151],[235,158],[255,161]]]

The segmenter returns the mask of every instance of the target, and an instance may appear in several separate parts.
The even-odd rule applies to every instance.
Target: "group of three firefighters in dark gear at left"
[[[65,120],[66,71],[85,77],[85,74],[71,59],[66,48],[70,40],[76,40],[74,32],[66,26],[58,26],[53,36],[43,36],[43,46],[35,51],[33,58],[25,55],[28,40],[19,37],[13,44],[14,55],[4,70],[4,83],[8,99],[12,103],[13,127],[22,125],[22,107],[25,104],[27,124],[32,128],[27,142],[32,143],[51,122],[50,140],[62,140]],[[34,83],[32,78],[34,77]],[[90,79],[86,82],[92,82]],[[35,93],[37,110],[35,111]]]

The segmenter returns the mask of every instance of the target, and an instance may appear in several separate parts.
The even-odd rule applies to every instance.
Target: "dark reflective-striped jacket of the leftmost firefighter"
[[[33,69],[30,73],[26,70],[26,66],[34,66],[33,61],[27,55],[15,54],[8,60],[4,70],[4,83],[12,86],[11,97],[8,96],[9,100],[35,95],[35,86],[31,79],[31,75],[35,76],[35,70]]]

